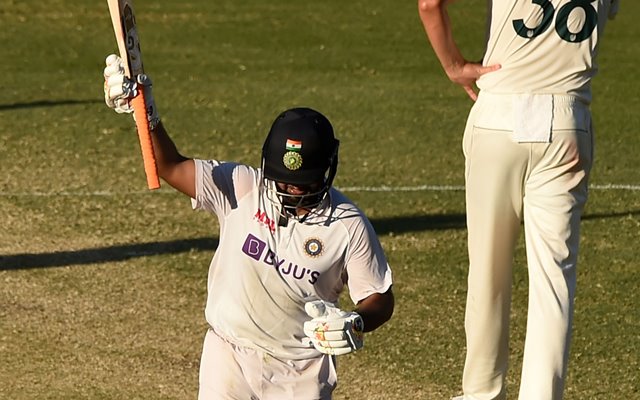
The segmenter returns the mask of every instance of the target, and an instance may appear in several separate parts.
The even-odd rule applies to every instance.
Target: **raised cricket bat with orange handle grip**
[[[133,13],[132,0],[107,0],[113,31],[116,34],[120,58],[124,62],[124,73],[130,78],[144,73],[142,66],[142,52],[140,51],[140,40],[136,29],[136,17]],[[144,89],[142,85],[138,87],[138,95],[131,99],[133,113],[140,139],[140,149],[142,150],[142,161],[144,162],[144,172],[147,176],[147,186],[149,189],[160,187],[158,177],[158,167],[156,157],[153,153],[153,143],[151,142],[151,130],[147,120],[147,110],[144,101]]]

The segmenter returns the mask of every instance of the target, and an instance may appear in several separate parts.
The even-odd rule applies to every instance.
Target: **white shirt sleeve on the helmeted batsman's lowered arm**
[[[369,220],[362,215],[354,220],[349,229],[347,285],[351,300],[357,304],[374,293],[389,290],[392,274],[382,245]]]

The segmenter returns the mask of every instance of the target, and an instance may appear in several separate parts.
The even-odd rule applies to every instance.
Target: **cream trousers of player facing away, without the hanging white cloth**
[[[580,218],[593,159],[588,105],[553,96],[550,143],[512,140],[510,95],[481,92],[463,138],[469,275],[465,398],[505,399],[512,268],[521,224],[529,298],[520,400],[562,398]]]

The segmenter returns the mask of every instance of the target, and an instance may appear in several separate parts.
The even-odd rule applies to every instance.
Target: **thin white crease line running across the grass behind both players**
[[[345,186],[338,187],[342,192],[459,192],[464,191],[464,186],[456,185],[419,185],[419,186]],[[608,183],[604,185],[591,185],[590,190],[625,190],[639,191],[640,185],[619,185]],[[166,190],[136,190],[131,192],[0,192],[0,197],[111,197],[129,195],[151,195],[151,194],[175,194],[172,189]]]

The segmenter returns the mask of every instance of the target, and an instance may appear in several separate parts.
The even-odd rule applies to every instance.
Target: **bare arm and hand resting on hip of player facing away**
[[[450,0],[418,0],[418,11],[431,47],[449,79],[462,86],[472,100],[477,99],[475,83],[480,76],[500,69],[500,65],[483,66],[467,61],[453,38],[447,12]]]

